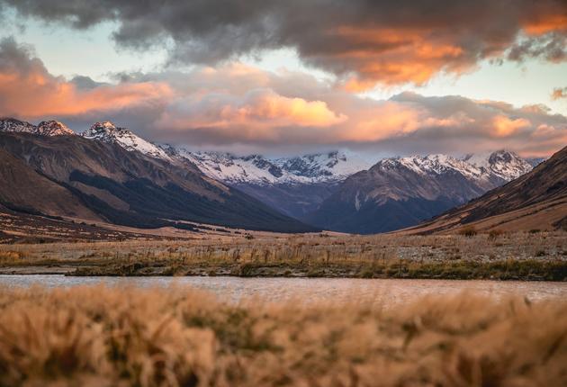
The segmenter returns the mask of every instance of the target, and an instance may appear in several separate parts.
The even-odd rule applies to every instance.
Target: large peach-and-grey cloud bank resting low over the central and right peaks
[[[567,145],[567,118],[545,105],[518,108],[415,93],[375,100],[306,74],[239,63],[119,78],[172,85],[177,97],[148,136],[193,148],[271,153],[347,147],[390,154],[511,148],[548,155]]]

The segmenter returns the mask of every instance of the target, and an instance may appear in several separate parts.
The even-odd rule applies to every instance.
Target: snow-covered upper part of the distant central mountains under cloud
[[[170,155],[184,157],[205,175],[229,184],[316,184],[338,182],[372,166],[355,155],[333,151],[290,158],[260,155],[234,156],[218,152],[190,152],[184,148]]]

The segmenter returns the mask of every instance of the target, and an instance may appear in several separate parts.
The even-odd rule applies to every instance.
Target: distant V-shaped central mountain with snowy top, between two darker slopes
[[[190,152],[184,148],[165,149],[171,157],[185,158],[205,175],[297,219],[315,211],[349,175],[372,166],[362,157],[339,151],[269,159],[259,155],[238,157],[228,153]]]

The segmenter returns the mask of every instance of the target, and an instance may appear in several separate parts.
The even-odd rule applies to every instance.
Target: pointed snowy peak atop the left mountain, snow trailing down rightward
[[[99,141],[120,145],[128,151],[137,150],[145,155],[170,160],[166,151],[157,145],[142,139],[130,130],[116,127],[111,121],[95,122],[89,130],[81,133],[85,139],[96,139]]]

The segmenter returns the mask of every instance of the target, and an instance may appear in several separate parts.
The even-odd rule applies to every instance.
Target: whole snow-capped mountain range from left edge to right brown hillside
[[[267,158],[157,145],[110,121],[0,120],[0,203],[132,227],[186,222],[375,233],[428,220],[529,172],[499,150],[374,160],[332,151]],[[41,187],[34,190],[32,187]]]

